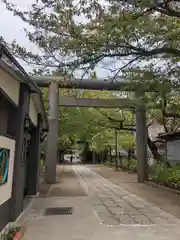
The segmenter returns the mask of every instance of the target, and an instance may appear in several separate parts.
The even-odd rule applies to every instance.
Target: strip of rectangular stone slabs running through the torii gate
[[[102,223],[108,225],[172,225],[180,220],[83,166],[75,166]],[[90,194],[90,189],[91,194]],[[90,196],[91,195],[91,196]]]

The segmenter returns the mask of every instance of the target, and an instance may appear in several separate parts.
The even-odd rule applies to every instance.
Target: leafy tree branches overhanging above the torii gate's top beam
[[[161,14],[140,18],[134,18],[134,12],[150,6],[150,1],[146,5],[140,1],[132,8],[123,1],[85,0],[73,4],[68,0],[41,0],[29,11],[3,1],[14,15],[33,27],[31,31],[26,29],[27,37],[41,50],[41,54],[33,54],[14,41],[10,45],[12,52],[43,71],[46,66],[72,74],[78,68],[83,75],[89,75],[102,64],[113,78],[127,66],[157,69],[158,65],[162,72],[177,73],[180,19],[171,17],[172,8],[171,12],[162,10],[162,6],[167,10],[171,1],[160,4],[161,10],[154,9]],[[163,67],[158,64],[160,60]],[[112,68],[112,61],[118,63],[117,68]]]

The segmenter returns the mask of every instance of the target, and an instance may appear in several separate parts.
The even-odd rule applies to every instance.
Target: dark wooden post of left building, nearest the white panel
[[[14,174],[12,182],[12,195],[10,199],[10,220],[13,222],[23,210],[24,199],[24,118],[29,113],[30,91],[27,85],[21,83],[19,91],[19,105],[17,112],[11,117],[11,124],[14,122],[14,133],[16,139],[14,156]],[[24,149],[24,150],[23,150]]]

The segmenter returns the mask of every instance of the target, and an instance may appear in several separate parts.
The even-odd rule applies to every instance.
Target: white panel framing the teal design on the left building
[[[15,140],[12,140],[4,136],[0,136],[0,148],[10,149],[8,181],[7,183],[0,185],[0,205],[1,205],[11,197],[14,170]]]

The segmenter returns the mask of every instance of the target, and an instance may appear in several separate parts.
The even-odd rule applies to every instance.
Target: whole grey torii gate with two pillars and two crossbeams
[[[56,182],[56,164],[58,151],[58,122],[59,106],[69,107],[102,107],[102,108],[134,108],[136,112],[136,153],[138,182],[144,182],[148,177],[147,167],[147,127],[146,109],[141,103],[140,97],[145,91],[150,91],[145,84],[132,84],[130,82],[90,79],[73,79],[63,82],[60,77],[33,76],[33,81],[39,87],[49,89],[48,122],[49,132],[47,136],[45,159],[45,182]],[[129,91],[136,93],[136,101],[130,99],[89,99],[59,96],[59,88],[76,88],[88,90]],[[141,91],[139,91],[139,88]]]

